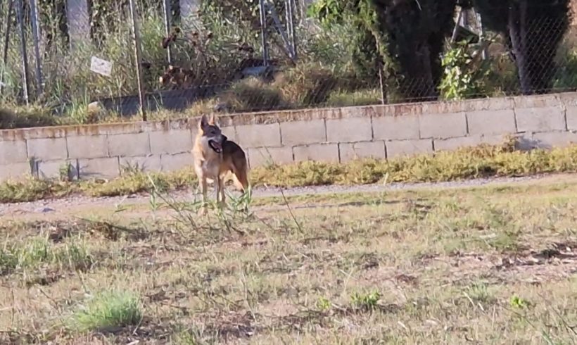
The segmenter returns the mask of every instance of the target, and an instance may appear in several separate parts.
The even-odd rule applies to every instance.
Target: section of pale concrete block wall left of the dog
[[[171,171],[190,164],[196,122],[39,127],[0,131],[0,180],[32,175],[118,177],[123,168]]]

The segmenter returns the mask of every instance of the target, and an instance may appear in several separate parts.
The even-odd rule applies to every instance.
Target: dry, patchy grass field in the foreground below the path
[[[4,248],[34,258],[2,271],[0,339],[572,344],[571,181],[255,200],[252,215],[206,219],[172,202],[24,215],[0,228],[0,265]]]

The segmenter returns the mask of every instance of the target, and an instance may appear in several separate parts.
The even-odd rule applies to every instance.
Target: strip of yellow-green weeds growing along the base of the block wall
[[[434,155],[372,158],[349,163],[304,161],[288,165],[266,165],[250,172],[253,187],[305,187],[326,184],[373,184],[377,182],[442,182],[480,177],[527,176],[554,172],[577,172],[577,146],[552,150],[519,151],[514,141],[503,145],[483,144]],[[33,201],[71,194],[119,196],[196,188],[196,175],[190,169],[177,172],[127,170],[109,181],[68,181],[27,179],[0,184],[0,202]]]

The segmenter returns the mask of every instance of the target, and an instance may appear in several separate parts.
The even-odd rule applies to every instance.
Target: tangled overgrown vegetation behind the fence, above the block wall
[[[568,37],[570,18],[566,1],[547,1],[547,4],[521,1],[528,22],[531,22],[526,27],[509,27],[508,10],[500,11],[502,4],[473,1],[483,15],[484,26],[492,30],[483,37],[483,42],[491,42],[490,54],[483,63],[478,62],[480,46],[469,44],[455,48],[455,44],[446,44],[455,24],[455,0],[316,1],[311,8],[296,11],[298,61],[287,57],[279,33],[274,29],[274,20],[269,18],[270,54],[275,72],[262,80],[239,80],[243,68],[260,63],[257,2],[203,1],[198,27],[187,26],[181,22],[179,11],[174,11],[176,21],[171,39],[165,37],[160,5],[150,1],[139,3],[146,90],[222,85],[222,90],[215,96],[201,99],[191,107],[189,113],[196,114],[215,109],[266,111],[381,103],[379,70],[383,77],[384,101],[388,103],[431,100],[438,96],[462,99],[526,94],[529,89],[567,91],[577,87],[577,80],[571,77],[574,73],[569,73],[574,69],[571,67],[573,43],[563,41]],[[462,5],[467,6],[466,2]],[[272,3],[284,19],[284,1]],[[177,4],[174,5],[177,8]],[[2,115],[13,118],[3,119],[2,127],[121,120],[116,114],[94,116],[87,111],[87,106],[96,98],[137,92],[132,49],[127,49],[132,44],[127,1],[91,1],[92,39],[75,49],[69,48],[63,1],[48,1],[41,7],[41,31],[46,36],[41,51],[44,94],[36,99],[42,111],[34,114],[50,114],[57,110],[65,115],[56,119],[48,115],[40,118],[37,115]],[[540,8],[546,11],[540,11]],[[0,6],[2,18],[5,12],[6,6]],[[15,18],[9,24],[13,35],[8,64],[0,66],[4,72],[0,105],[12,109],[21,99],[23,89],[18,35],[14,35]],[[538,27],[544,29],[539,31]],[[4,30],[5,26],[0,27],[0,33]],[[516,32],[529,37],[531,44],[525,53],[521,53],[523,49],[513,49],[512,37]],[[167,77],[170,73],[163,42],[170,43],[173,71],[179,71],[170,77]],[[27,44],[28,51],[32,52],[30,32]],[[516,55],[506,54],[513,50]],[[476,61],[467,62],[468,58],[457,61],[458,55],[476,56]],[[88,68],[91,56],[112,61],[113,75],[102,77],[92,73]],[[535,59],[545,63],[531,63]],[[33,54],[29,60],[32,68]],[[445,61],[444,65],[442,61]],[[457,76],[455,73],[459,72],[463,74]],[[160,76],[165,82],[159,82]],[[30,82],[34,99],[37,85],[33,75],[30,75]],[[62,101],[66,106],[58,106]],[[164,113],[158,113],[151,118],[163,116]]]

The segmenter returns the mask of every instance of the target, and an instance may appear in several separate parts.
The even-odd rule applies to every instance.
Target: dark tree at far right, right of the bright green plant
[[[505,36],[521,93],[547,92],[557,48],[569,27],[569,0],[476,0],[474,6],[483,25]]]

